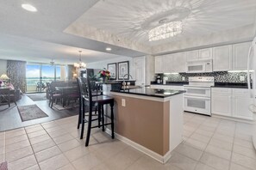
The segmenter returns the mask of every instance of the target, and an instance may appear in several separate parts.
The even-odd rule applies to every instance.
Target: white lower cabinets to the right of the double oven
[[[212,88],[211,112],[232,118],[253,119],[248,107],[253,104],[248,89]]]

